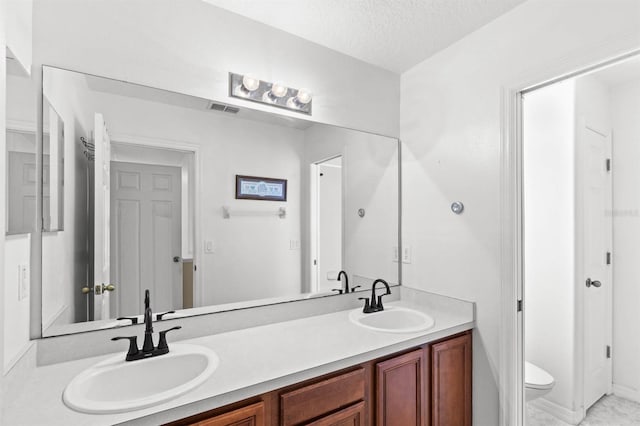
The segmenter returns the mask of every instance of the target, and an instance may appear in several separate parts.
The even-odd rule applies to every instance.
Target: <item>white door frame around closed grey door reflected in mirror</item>
[[[146,136],[135,136],[129,135],[126,133],[113,133],[111,135],[111,139],[115,144],[123,144],[123,145],[137,145],[145,148],[154,148],[161,150],[169,150],[169,151],[180,151],[184,153],[192,153],[193,154],[193,191],[195,196],[194,206],[193,206],[193,230],[191,238],[192,238],[192,247],[193,247],[193,265],[197,267],[200,263],[200,259],[202,259],[204,255],[203,249],[203,240],[201,237],[201,229],[202,229],[202,214],[201,214],[201,201],[199,196],[200,189],[202,188],[202,165],[201,165],[201,155],[200,155],[200,145],[184,142],[184,141],[176,141],[171,139],[161,139],[161,138],[151,138]],[[184,190],[184,188],[183,188]],[[183,212],[184,214],[184,212]],[[181,233],[182,235],[182,233]],[[184,235],[182,235],[182,241],[184,242]],[[182,255],[182,253],[181,253]],[[194,271],[195,272],[195,271]],[[202,301],[204,300],[204,289],[202,283],[206,282],[204,276],[204,268],[200,268],[198,273],[193,274],[193,306],[202,306]]]

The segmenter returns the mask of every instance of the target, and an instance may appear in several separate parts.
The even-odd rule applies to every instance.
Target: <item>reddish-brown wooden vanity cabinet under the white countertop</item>
[[[471,426],[471,331],[171,426]]]

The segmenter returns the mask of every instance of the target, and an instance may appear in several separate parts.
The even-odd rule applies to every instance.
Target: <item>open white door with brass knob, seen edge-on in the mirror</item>
[[[110,317],[110,291],[101,291],[103,285],[111,284],[110,276],[110,222],[111,222],[111,139],[102,114],[94,117],[93,138],[94,162],[94,320]],[[117,291],[117,287],[116,287]]]

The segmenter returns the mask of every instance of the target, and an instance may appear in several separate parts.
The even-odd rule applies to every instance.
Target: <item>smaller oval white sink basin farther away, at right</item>
[[[355,324],[387,333],[415,333],[435,325],[435,320],[424,312],[400,306],[386,306],[384,311],[365,314],[362,309],[349,312]]]

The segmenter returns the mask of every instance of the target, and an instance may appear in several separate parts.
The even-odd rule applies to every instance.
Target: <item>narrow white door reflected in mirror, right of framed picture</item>
[[[342,156],[316,163],[316,288],[328,292],[342,269]]]

